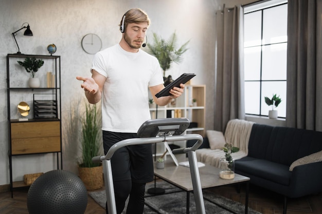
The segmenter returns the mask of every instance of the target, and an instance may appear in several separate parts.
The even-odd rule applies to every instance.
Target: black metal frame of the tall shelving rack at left
[[[42,88],[28,88],[28,87],[10,87],[10,66],[14,60],[14,58],[40,58],[40,59],[48,59],[48,62],[51,62],[50,60],[52,60],[52,64],[53,67],[55,68],[55,70],[53,71],[53,73],[55,73],[55,86],[56,87],[42,87]],[[10,61],[11,59],[11,61]],[[12,71],[11,71],[12,72]],[[35,94],[44,94],[47,95],[46,92],[50,91],[51,94],[55,94],[56,98],[55,98],[55,102],[57,105],[57,114],[56,117],[48,117],[48,118],[33,118],[33,119],[28,119],[28,120],[21,120],[19,121],[19,119],[11,119],[11,107],[10,104],[10,99],[12,94],[16,94],[19,92],[24,91],[25,93],[28,94],[33,94],[33,96]],[[12,94],[11,94],[12,93]],[[33,99],[34,100],[34,99]],[[56,153],[57,156],[57,169],[62,169],[63,168],[63,155],[62,155],[62,127],[61,127],[61,62],[60,62],[60,56],[58,55],[37,55],[37,54],[7,54],[7,105],[8,105],[8,141],[9,141],[9,151],[8,151],[8,157],[9,157],[9,169],[10,169],[10,190],[11,190],[11,197],[13,198],[13,189],[14,188],[19,188],[19,187],[23,187],[23,186],[30,186],[30,185],[26,185],[24,184],[23,181],[13,181],[13,170],[12,170],[12,157],[15,156],[24,156],[24,155],[31,155],[31,154],[44,154],[44,153]],[[11,104],[12,105],[12,104]],[[45,122],[45,123],[49,123],[49,124],[53,124],[51,122],[59,122],[56,123],[56,127],[58,127],[57,130],[57,138],[60,138],[60,141],[56,141],[57,142],[57,146],[59,147],[59,143],[60,143],[60,150],[59,149],[53,149],[53,150],[43,150],[41,152],[38,152],[36,150],[30,150],[30,152],[28,153],[14,153],[12,152],[12,133],[13,131],[15,131],[15,135],[17,135],[17,130],[19,129],[15,129],[15,130],[11,130],[11,127],[20,127],[20,126],[24,126],[24,124],[19,124],[19,123],[30,123],[28,124],[27,127],[32,127],[35,126],[37,127],[37,124],[35,124],[35,122]],[[33,123],[33,124],[31,124]],[[47,123],[47,124],[48,124]],[[33,128],[31,128],[33,129]],[[48,129],[46,129],[48,130]],[[32,132],[31,132],[32,133]],[[59,137],[60,134],[60,137]],[[44,138],[48,138],[47,135],[44,135]],[[14,147],[15,149],[17,147]],[[55,167],[56,168],[56,167]]]

